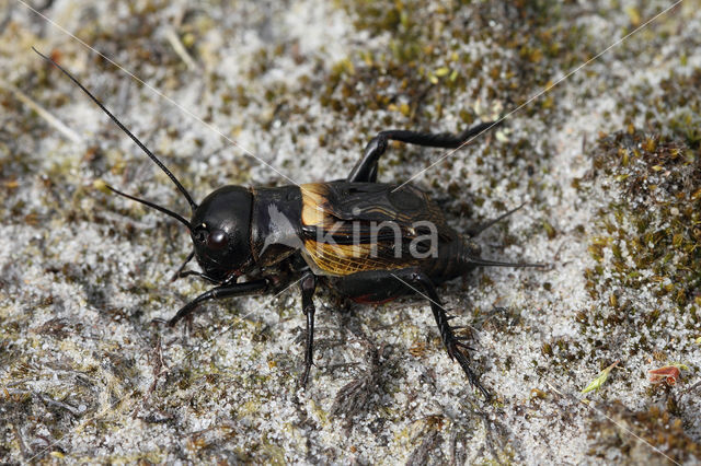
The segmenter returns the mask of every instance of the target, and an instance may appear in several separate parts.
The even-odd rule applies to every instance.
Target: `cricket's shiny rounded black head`
[[[249,189],[225,186],[194,209],[189,233],[197,263],[209,278],[241,275],[251,264],[252,203]]]

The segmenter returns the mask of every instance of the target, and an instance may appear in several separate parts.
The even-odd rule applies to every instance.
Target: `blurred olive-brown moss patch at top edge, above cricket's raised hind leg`
[[[551,60],[574,66],[587,56],[584,31],[562,27],[561,5],[554,1],[486,2],[470,9],[425,0],[337,3],[358,30],[389,36],[388,48],[358,50],[332,67],[321,103],[346,116],[361,108],[387,109],[392,115],[388,125],[435,124],[446,105],[466,93],[473,100],[485,96],[487,105],[505,101],[519,105],[553,80]],[[466,11],[471,12],[469,18]],[[484,18],[508,25],[504,34],[495,36]],[[460,46],[471,42],[485,42],[490,50],[472,54]],[[548,95],[526,110],[550,110],[555,98]],[[466,125],[485,117],[472,102],[466,102],[459,116]]]

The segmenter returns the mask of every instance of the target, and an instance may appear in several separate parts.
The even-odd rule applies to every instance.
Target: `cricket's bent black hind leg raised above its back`
[[[375,183],[377,180],[378,160],[387,151],[387,143],[390,140],[429,148],[457,149],[470,138],[497,126],[499,123],[501,121],[483,123],[468,128],[459,135],[452,135],[450,132],[406,131],[401,129],[380,131],[375,138],[370,139],[370,142],[368,142],[365,148],[363,159],[355,164],[346,182]]]

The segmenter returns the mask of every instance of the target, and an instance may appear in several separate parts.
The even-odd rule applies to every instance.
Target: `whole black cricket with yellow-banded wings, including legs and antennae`
[[[36,51],[36,50],[35,50]],[[37,51],[37,54],[39,54]],[[324,284],[360,303],[381,303],[406,294],[427,299],[448,356],[485,398],[489,392],[470,366],[470,347],[456,335],[436,286],[461,277],[478,266],[541,267],[480,257],[472,241],[486,228],[513,213],[486,222],[461,237],[439,207],[421,189],[406,184],[377,182],[378,161],[388,141],[434,148],[460,148],[464,141],[496,124],[483,123],[459,135],[406,130],[381,131],[367,144],[345,179],[274,188],[225,186],[197,203],[177,178],[76,78],[39,54],[70,78],[170,177],[192,208],[186,220],[162,206],[112,191],[159,210],[184,224],[193,251],[175,278],[196,276],[214,288],[185,304],[168,322],[175,325],[205,301],[275,293],[299,282],[307,316],[304,369],[312,365],[317,286]],[[196,258],[200,271],[185,270]]]

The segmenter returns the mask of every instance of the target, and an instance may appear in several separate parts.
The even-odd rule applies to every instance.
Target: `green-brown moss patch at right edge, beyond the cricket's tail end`
[[[685,308],[701,284],[701,159],[683,142],[632,128],[601,138],[595,153],[594,176],[612,179],[627,202],[601,212],[607,235],[591,240],[591,257],[610,252],[611,283],[652,286]]]

